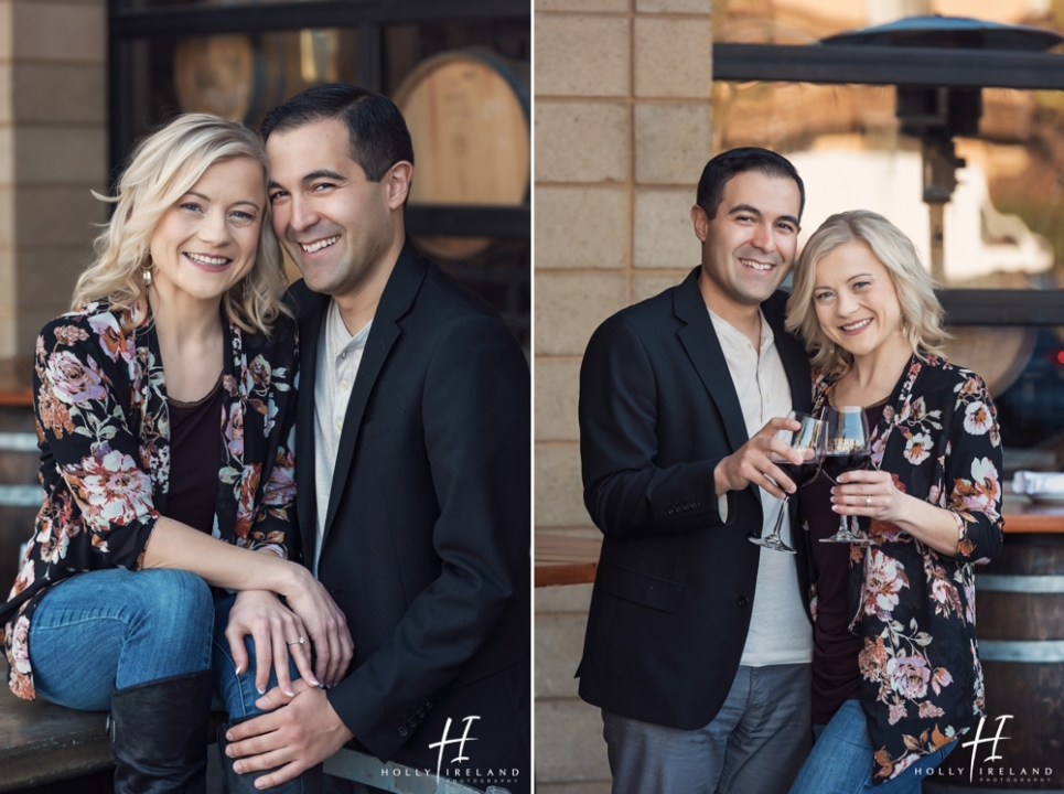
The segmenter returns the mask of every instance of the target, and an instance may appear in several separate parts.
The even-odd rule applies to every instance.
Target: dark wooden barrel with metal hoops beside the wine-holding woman
[[[993,748],[958,747],[925,792],[1064,792],[1064,533],[1008,534],[1001,556],[976,572],[976,630],[986,679],[981,739]],[[975,738],[975,727],[961,743]],[[988,774],[988,770],[992,770]]]

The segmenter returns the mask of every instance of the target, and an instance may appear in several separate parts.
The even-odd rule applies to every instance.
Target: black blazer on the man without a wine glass
[[[298,514],[314,558],[314,380],[327,296],[300,281]],[[407,240],[366,341],[333,475],[319,579],[355,645],[329,701],[381,760],[528,768],[529,373],[487,303]],[[502,676],[502,679],[499,679]],[[497,697],[499,688],[524,688]],[[491,741],[490,741],[491,739]],[[444,765],[458,754],[448,745]],[[465,764],[463,764],[465,765]]]

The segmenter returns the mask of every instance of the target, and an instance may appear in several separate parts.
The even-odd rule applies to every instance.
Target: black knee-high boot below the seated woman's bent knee
[[[204,794],[213,682],[206,669],[111,696],[115,794]]]

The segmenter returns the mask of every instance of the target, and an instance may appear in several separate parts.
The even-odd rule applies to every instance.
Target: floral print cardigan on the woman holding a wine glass
[[[814,411],[836,379],[815,378]],[[863,640],[861,706],[881,783],[986,713],[972,564],[1001,550],[1003,522],[1001,437],[979,376],[913,356],[872,431],[872,463],[899,491],[953,513],[958,538],[947,557],[861,518],[872,543],[850,546],[850,631]]]

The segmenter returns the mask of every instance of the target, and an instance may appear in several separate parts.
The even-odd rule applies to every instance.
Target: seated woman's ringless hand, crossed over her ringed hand
[[[314,674],[325,686],[343,678],[354,655],[354,643],[347,619],[314,576],[301,565],[292,564],[293,581],[281,594],[298,614],[314,644]]]

